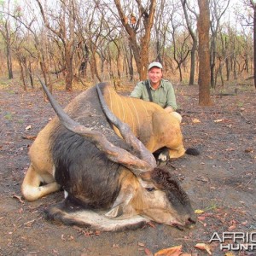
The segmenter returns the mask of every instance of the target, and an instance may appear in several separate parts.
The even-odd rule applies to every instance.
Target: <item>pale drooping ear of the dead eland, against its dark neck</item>
[[[121,189],[118,197],[113,202],[111,210],[107,212],[105,216],[109,218],[117,218],[124,213],[127,213],[125,208],[130,204],[134,194],[135,189],[131,185],[127,186],[125,189]]]

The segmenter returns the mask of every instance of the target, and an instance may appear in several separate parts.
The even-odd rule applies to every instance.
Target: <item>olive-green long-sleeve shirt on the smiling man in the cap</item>
[[[174,111],[177,109],[175,92],[171,82],[165,79],[161,79],[160,86],[156,90],[154,90],[154,88],[150,85],[149,79],[148,83],[153,98],[153,102],[160,105],[162,108],[171,106]],[[149,102],[146,81],[141,81],[137,83],[134,90],[131,92],[130,96],[143,99],[144,101]]]

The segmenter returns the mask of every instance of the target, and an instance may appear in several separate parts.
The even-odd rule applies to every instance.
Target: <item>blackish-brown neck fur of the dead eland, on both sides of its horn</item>
[[[114,145],[132,151],[131,146],[115,134],[96,98],[96,90],[90,90],[90,93],[84,94],[84,102],[89,102],[86,108],[75,102],[73,110],[68,111],[69,115],[85,127],[102,131]],[[49,134],[49,141],[55,181],[62,189],[73,195],[74,200],[83,201],[86,207],[110,207],[119,194],[121,166],[108,160],[86,138],[68,131],[59,121]],[[81,195],[83,198],[80,200]]]

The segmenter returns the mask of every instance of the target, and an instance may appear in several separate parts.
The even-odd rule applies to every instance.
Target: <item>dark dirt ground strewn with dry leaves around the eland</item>
[[[197,148],[201,154],[185,155],[168,166],[177,174],[195,210],[203,212],[191,230],[148,224],[119,233],[46,220],[44,208],[61,201],[62,192],[35,202],[20,197],[32,144],[32,139],[24,137],[36,136],[54,113],[44,102],[42,90],[24,92],[15,84],[0,86],[0,255],[140,256],[179,245],[187,255],[207,255],[195,245],[207,244],[214,232],[221,236],[222,232],[256,231],[256,93],[252,85],[236,84],[226,90],[238,88],[237,95],[213,91],[213,105],[208,108],[198,107],[198,86],[175,86],[185,147]],[[54,93],[62,106],[78,94]],[[220,242],[209,246],[212,255],[225,255]],[[230,255],[256,252],[233,251]]]

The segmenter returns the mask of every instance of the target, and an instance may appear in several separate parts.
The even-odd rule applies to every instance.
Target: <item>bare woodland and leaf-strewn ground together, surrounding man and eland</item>
[[[254,0],[0,1],[0,255],[256,255],[208,242],[256,230],[255,14]],[[54,116],[37,76],[65,107],[99,81],[129,95],[150,61],[174,85],[185,147],[201,151],[167,165],[195,228],[108,234],[47,221],[62,192],[20,195],[27,151]]]

